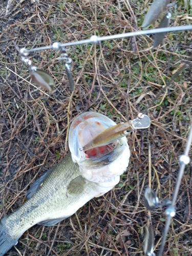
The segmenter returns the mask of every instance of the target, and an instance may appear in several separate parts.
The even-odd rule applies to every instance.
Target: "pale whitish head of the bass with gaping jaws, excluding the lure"
[[[69,130],[69,148],[80,174],[89,181],[105,183],[105,186],[113,182],[117,184],[129,164],[130,149],[126,137],[86,152],[81,152],[80,148],[115,124],[102,114],[84,112],[73,120]]]

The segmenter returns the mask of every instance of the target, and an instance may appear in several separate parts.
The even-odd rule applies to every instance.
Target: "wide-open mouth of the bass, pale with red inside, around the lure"
[[[110,118],[95,112],[84,112],[77,116],[73,120],[69,131],[69,148],[73,161],[98,160],[112,153],[118,145],[118,140],[87,151],[81,151],[80,148],[90,142],[96,135],[115,124]],[[106,160],[107,157],[104,159]]]

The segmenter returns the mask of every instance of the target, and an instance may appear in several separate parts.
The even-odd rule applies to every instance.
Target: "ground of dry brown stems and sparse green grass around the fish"
[[[18,48],[49,46],[91,35],[141,30],[150,1],[38,1],[0,3],[0,194],[1,216],[25,200],[30,184],[68,151],[74,117],[95,111],[119,123],[139,112],[150,116],[149,129],[127,136],[130,165],[108,194],[91,200],[76,215],[52,227],[35,225],[6,255],[143,255],[144,226],[151,221],[158,250],[164,210],[143,204],[148,185],[171,199],[192,121],[190,64],[164,88],[191,56],[191,31],[171,32],[154,49],[154,35],[69,47],[75,91],[72,94],[57,51],[30,54],[34,66],[55,81],[52,93],[29,83]],[[177,1],[171,26],[191,23],[191,1]],[[158,26],[156,22],[151,28]],[[158,93],[160,91],[160,93]],[[190,152],[191,156],[191,152]],[[151,178],[149,178],[151,177]],[[185,168],[164,255],[191,254],[191,164]]]

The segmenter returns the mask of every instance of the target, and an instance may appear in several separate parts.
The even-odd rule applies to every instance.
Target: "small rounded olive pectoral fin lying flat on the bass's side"
[[[86,185],[86,179],[81,175],[73,179],[67,186],[67,193],[70,195],[81,194]]]

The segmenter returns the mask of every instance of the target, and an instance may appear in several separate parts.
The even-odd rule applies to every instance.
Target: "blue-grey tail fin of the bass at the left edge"
[[[0,256],[3,256],[13,245],[17,244],[17,239],[11,238],[11,236],[6,233],[5,227],[0,223]]]

